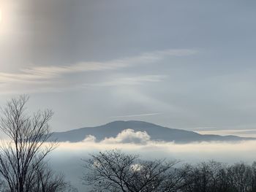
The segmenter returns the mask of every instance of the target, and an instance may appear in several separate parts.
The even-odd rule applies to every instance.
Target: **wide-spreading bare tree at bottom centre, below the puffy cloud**
[[[91,185],[91,191],[168,192],[175,191],[182,180],[173,177],[172,168],[178,161],[141,161],[138,155],[127,155],[118,150],[91,155],[84,161],[86,174],[83,180]]]

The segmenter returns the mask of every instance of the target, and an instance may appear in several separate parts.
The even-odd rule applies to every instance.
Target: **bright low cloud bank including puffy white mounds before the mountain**
[[[121,149],[128,153],[138,153],[146,158],[176,158],[187,162],[217,160],[225,162],[255,161],[256,141],[241,142],[193,142],[176,144],[151,140],[146,131],[126,129],[116,137],[105,138],[97,142],[94,136],[87,136],[83,142],[61,142],[59,152],[77,151],[91,153],[111,149]]]

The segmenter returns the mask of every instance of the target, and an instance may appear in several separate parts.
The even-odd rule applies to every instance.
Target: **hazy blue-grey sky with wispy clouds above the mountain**
[[[255,134],[256,2],[0,0],[0,104],[53,131],[144,120]],[[232,132],[233,131],[233,132]]]

